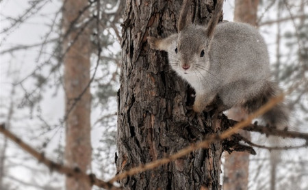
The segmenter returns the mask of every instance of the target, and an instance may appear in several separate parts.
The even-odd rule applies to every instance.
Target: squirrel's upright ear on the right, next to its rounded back
[[[216,25],[219,21],[220,14],[222,12],[222,5],[224,3],[224,0],[218,0],[217,4],[215,6],[215,10],[213,14],[211,15],[211,20],[209,20],[209,23],[207,25],[207,38],[211,40],[211,38],[214,35],[214,30],[216,28]]]

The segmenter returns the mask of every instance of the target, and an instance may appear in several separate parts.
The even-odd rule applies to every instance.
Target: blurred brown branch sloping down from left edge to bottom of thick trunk
[[[47,167],[49,167],[51,171],[55,170],[59,172],[60,174],[64,174],[66,176],[73,177],[79,180],[85,180],[86,182],[89,182],[91,185],[96,185],[97,187],[102,187],[105,189],[112,189],[112,190],[122,189],[120,187],[115,187],[110,182],[105,182],[103,180],[100,180],[94,174],[86,174],[84,172],[81,172],[81,170],[77,167],[70,168],[65,165],[60,165],[59,163],[55,163],[47,159],[46,157],[44,157],[44,154],[38,152],[37,150],[29,146],[28,144],[25,144],[25,142],[23,142],[21,139],[16,137],[16,135],[14,135],[13,133],[5,129],[4,124],[0,124],[0,133],[3,133],[5,137],[14,141],[23,150],[31,154],[32,157],[38,159],[38,161],[40,161],[44,165],[47,165]]]

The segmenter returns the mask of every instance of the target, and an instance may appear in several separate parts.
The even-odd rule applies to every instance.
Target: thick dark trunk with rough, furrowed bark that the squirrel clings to
[[[147,36],[177,31],[181,1],[126,1],[118,93],[117,172],[168,157],[211,133],[220,121],[188,118],[192,90],[170,70],[166,53],[149,49]],[[206,23],[213,1],[193,1],[195,21]],[[206,121],[205,121],[206,120]],[[120,180],[125,189],[221,189],[222,143]]]

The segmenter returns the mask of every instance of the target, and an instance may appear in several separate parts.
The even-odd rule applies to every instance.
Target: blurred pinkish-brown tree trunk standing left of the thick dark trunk
[[[64,90],[66,94],[66,164],[83,172],[90,169],[91,165],[91,142],[90,142],[90,35],[88,29],[79,33],[81,28],[72,21],[77,18],[86,5],[87,0],[68,0],[64,5],[63,27],[64,33],[70,30],[64,39]],[[84,16],[79,18],[86,18]],[[78,36],[78,37],[77,37]],[[66,189],[87,190],[90,184],[77,181],[75,178],[66,178]]]

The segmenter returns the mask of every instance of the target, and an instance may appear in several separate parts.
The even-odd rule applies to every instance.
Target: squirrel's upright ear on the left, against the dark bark
[[[179,23],[177,25],[177,31],[180,32],[183,28],[192,24],[192,16],[188,16],[188,12],[192,8],[192,0],[184,0],[179,15]]]

